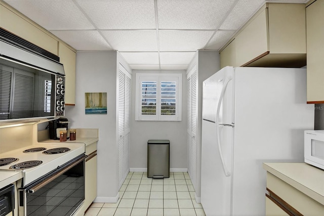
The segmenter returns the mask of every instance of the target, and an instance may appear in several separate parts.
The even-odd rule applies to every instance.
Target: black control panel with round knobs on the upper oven
[[[59,75],[56,76],[56,84],[55,84],[55,116],[64,116],[64,77]]]

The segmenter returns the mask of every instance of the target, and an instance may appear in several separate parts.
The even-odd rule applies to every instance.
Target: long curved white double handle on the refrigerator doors
[[[225,90],[227,88],[227,85],[228,83],[232,80],[232,77],[227,77],[224,81],[224,85],[223,85],[223,89],[222,89],[222,92],[221,92],[221,95],[219,97],[219,101],[218,101],[218,105],[217,105],[217,112],[216,112],[216,133],[217,133],[217,145],[218,145],[218,151],[219,151],[219,156],[221,158],[221,161],[222,161],[222,164],[223,164],[223,170],[224,170],[224,173],[225,173],[225,176],[230,176],[231,175],[231,171],[228,170],[226,164],[225,164],[225,161],[224,161],[224,158],[223,158],[223,152],[222,152],[222,147],[221,147],[221,141],[220,141],[220,138],[219,138],[219,126],[222,125],[222,126],[232,126],[234,127],[233,124],[222,124],[222,123],[219,123],[219,112],[220,112],[220,107],[221,107],[221,104],[222,104],[222,100],[223,100],[223,97],[224,97],[224,94],[225,94]]]

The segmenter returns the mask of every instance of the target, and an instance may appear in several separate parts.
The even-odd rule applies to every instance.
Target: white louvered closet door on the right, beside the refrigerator
[[[187,145],[188,174],[193,187],[196,184],[196,126],[197,126],[197,70],[196,65],[187,76]]]

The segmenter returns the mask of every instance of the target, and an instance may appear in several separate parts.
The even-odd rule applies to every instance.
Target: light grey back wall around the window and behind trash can
[[[136,73],[181,73],[182,74],[182,121],[157,122],[135,121],[135,86]],[[131,171],[146,171],[147,140],[170,140],[170,168],[172,171],[187,170],[187,137],[186,137],[186,73],[184,70],[133,70],[131,102]]]

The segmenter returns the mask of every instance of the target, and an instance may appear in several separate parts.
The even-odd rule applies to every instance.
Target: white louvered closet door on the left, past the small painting
[[[131,75],[121,65],[118,73],[118,182],[123,185],[129,172]]]

